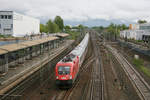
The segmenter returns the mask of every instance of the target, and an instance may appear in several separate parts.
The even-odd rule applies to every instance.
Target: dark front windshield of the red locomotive
[[[58,74],[59,75],[70,74],[70,67],[69,66],[60,66],[60,67],[58,67]]]

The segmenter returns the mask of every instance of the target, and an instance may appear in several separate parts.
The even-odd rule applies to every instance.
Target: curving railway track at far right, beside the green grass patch
[[[125,71],[132,85],[134,86],[138,96],[141,100],[150,100],[150,86],[144,80],[144,78],[134,69],[134,67],[123,57],[117,50],[110,45],[106,45],[112,52],[121,67]]]

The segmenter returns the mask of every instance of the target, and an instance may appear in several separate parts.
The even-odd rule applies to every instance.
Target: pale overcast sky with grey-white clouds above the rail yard
[[[0,10],[14,10],[43,19],[150,21],[150,0],[0,0]]]

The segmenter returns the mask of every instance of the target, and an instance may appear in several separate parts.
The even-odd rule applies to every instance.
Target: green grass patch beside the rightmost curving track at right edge
[[[141,59],[133,59],[133,64],[140,69],[145,75],[150,77],[150,69],[144,66],[144,61]]]

